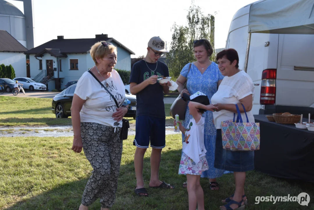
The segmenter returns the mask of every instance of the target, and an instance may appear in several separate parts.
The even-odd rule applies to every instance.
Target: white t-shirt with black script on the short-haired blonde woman
[[[116,70],[112,70],[111,76],[102,83],[115,96],[119,107],[125,99],[125,88],[122,79]],[[111,95],[101,87],[99,82],[88,72],[84,72],[78,80],[74,94],[86,100],[80,111],[81,122],[96,122],[111,127],[122,127],[122,120],[116,122],[112,114],[116,112],[116,103]]]

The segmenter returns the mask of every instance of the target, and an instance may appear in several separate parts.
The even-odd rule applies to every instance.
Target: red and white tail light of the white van
[[[261,105],[273,105],[276,99],[277,69],[265,69],[262,73]]]

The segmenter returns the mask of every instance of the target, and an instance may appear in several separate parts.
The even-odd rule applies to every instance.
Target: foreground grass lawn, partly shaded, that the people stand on
[[[160,179],[174,184],[174,190],[148,188],[149,197],[134,193],[134,136],[123,141],[116,202],[112,209],[188,209],[187,190],[182,183],[184,175],[178,175],[181,157],[181,135],[167,135],[166,147],[161,156]],[[0,138],[0,209],[69,210],[77,209],[92,168],[84,153],[74,153],[70,148],[72,138]],[[149,148],[144,157],[144,180],[149,184]],[[309,166],[310,170],[311,166]],[[205,208],[219,209],[220,200],[231,195],[234,189],[232,174],[218,178],[219,191],[211,191],[207,179],[201,179]],[[247,173],[246,209],[313,209],[314,184],[277,179],[251,171]],[[296,202],[261,202],[254,204],[255,196],[297,196],[306,192],[311,196],[309,206]],[[100,209],[99,199],[89,208]]]

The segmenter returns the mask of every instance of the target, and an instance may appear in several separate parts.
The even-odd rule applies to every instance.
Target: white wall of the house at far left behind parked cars
[[[26,77],[26,55],[24,53],[0,52],[1,64],[11,64],[16,77]]]

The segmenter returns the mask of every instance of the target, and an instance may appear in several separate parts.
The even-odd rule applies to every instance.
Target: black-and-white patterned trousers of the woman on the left
[[[122,156],[121,128],[95,122],[81,122],[81,136],[86,158],[93,167],[83,196],[82,204],[91,205],[100,198],[101,207],[112,207],[118,186]]]

